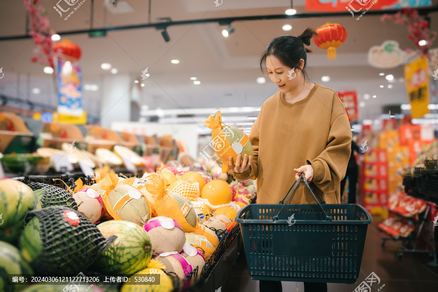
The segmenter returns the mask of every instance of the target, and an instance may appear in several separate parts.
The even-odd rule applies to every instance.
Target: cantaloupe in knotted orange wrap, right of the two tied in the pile
[[[166,187],[167,181],[158,174],[151,175],[146,182],[146,190],[155,196],[154,209],[157,216],[175,219],[184,232],[192,232],[198,224],[198,216],[192,203]]]

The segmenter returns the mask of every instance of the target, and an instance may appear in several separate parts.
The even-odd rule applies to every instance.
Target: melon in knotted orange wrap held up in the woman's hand
[[[243,162],[244,154],[247,154],[248,158],[249,156],[253,156],[253,146],[249,141],[248,135],[234,126],[222,126],[220,110],[216,112],[216,117],[210,115],[208,119],[205,120],[204,125],[213,130],[211,132],[213,140],[208,146],[215,150],[216,154],[222,161],[222,173],[226,173],[230,170],[230,166],[228,165],[228,158],[230,156],[233,156],[233,164],[236,164],[238,154],[241,155],[241,162]],[[206,158],[204,155],[202,156]]]

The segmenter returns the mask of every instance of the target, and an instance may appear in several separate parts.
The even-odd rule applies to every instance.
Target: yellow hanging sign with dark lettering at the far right
[[[411,105],[412,118],[420,118],[429,113],[429,65],[423,57],[404,66],[404,82]]]

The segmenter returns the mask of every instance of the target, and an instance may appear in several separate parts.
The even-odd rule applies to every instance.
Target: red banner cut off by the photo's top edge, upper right
[[[307,11],[348,11],[353,17],[366,8],[374,10],[431,6],[432,0],[306,0]]]

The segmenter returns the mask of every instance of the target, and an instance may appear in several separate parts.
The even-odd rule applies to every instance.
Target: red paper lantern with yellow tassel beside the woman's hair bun
[[[313,37],[315,44],[321,49],[328,50],[329,60],[336,59],[336,48],[347,38],[345,27],[338,23],[326,23],[316,30],[319,37]]]

